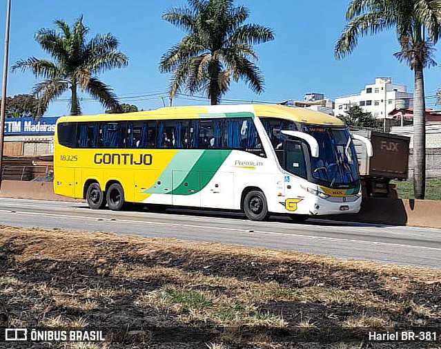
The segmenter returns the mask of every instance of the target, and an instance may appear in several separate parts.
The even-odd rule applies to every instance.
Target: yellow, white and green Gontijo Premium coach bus
[[[92,209],[133,202],[304,220],[355,213],[362,200],[343,122],[270,104],[59,117],[54,175],[56,194]]]

